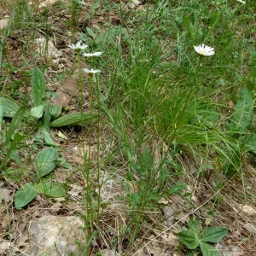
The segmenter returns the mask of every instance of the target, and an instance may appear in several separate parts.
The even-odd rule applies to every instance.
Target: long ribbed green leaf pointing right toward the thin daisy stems
[[[86,121],[95,119],[94,113],[67,113],[59,119],[55,119],[49,125],[50,127],[61,127],[67,125],[83,125]]]

